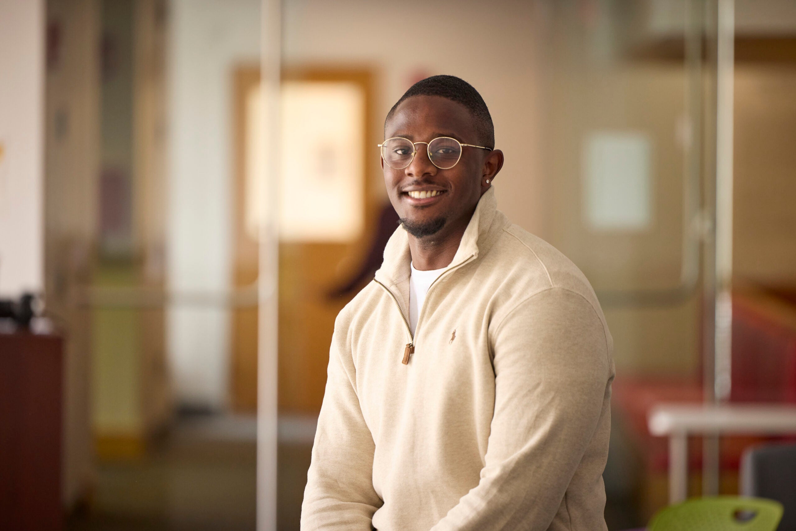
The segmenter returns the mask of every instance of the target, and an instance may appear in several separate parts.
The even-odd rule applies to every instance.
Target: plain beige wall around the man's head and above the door
[[[534,5],[409,0],[401,4],[403,14],[396,14],[392,2],[285,2],[283,61],[373,68],[373,150],[383,139],[384,116],[416,80],[452,74],[473,84],[490,107],[497,147],[506,154],[495,184],[498,205],[513,221],[539,232],[546,201],[537,153]],[[368,175],[387,201],[377,161]]]

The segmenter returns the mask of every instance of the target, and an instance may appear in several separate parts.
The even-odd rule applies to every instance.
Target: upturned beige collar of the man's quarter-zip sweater
[[[470,256],[477,257],[479,250],[486,250],[494,239],[493,222],[497,216],[497,200],[495,199],[494,188],[486,190],[478,200],[473,217],[462,235],[462,241],[458,244],[458,250],[445,269],[455,267]],[[376,271],[376,279],[385,286],[396,286],[409,278],[411,270],[409,264],[412,263],[412,255],[409,252],[409,235],[403,225],[396,228],[384,248],[384,262]]]

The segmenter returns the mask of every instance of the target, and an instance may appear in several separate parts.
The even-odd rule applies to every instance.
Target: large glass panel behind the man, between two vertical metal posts
[[[655,379],[668,379],[673,392],[700,400],[698,179],[705,163],[701,131],[712,122],[702,121],[700,95],[708,87],[702,54],[692,49],[690,24],[697,25],[700,43],[703,32],[702,21],[693,19],[693,2],[498,2],[493,7],[416,6],[425,21],[447,21],[434,25],[435,49],[429,53],[423,39],[385,41],[385,32],[416,23],[396,21],[393,6],[285,2],[283,64],[287,71],[372,65],[368,145],[375,155],[384,139],[384,117],[417,80],[453,74],[473,84],[490,108],[496,147],[505,153],[494,183],[498,208],[564,252],[598,292],[615,341],[617,373],[628,382],[624,394],[622,382],[616,385],[618,407],[622,400],[638,403],[634,390],[641,392]],[[330,20],[356,27],[357,38]],[[379,158],[365,154],[371,192],[364,237],[338,266],[354,275],[378,267],[396,221]],[[294,161],[283,164],[291,167]],[[330,263],[302,259],[284,243],[281,251],[280,412],[283,423],[301,416],[311,428],[321,403],[331,328],[313,330],[312,315],[291,301],[306,296],[314,275],[328,271]],[[362,284],[339,278],[348,288],[341,290],[342,306]],[[298,365],[291,357],[299,344],[311,354],[294,371],[288,368]],[[300,410],[285,407],[284,388],[310,381],[315,398]],[[635,500],[639,469],[630,456],[638,449],[622,424],[638,419],[617,417],[604,476],[609,529],[643,525],[645,511],[661,502]],[[309,462],[308,439],[280,441],[279,529],[295,529],[299,486],[306,482]]]

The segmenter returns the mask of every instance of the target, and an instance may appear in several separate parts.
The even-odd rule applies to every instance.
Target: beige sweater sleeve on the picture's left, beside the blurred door
[[[362,416],[346,330],[336,323],[326,392],[312,447],[301,529],[370,531],[382,505],[373,490],[375,445]]]

